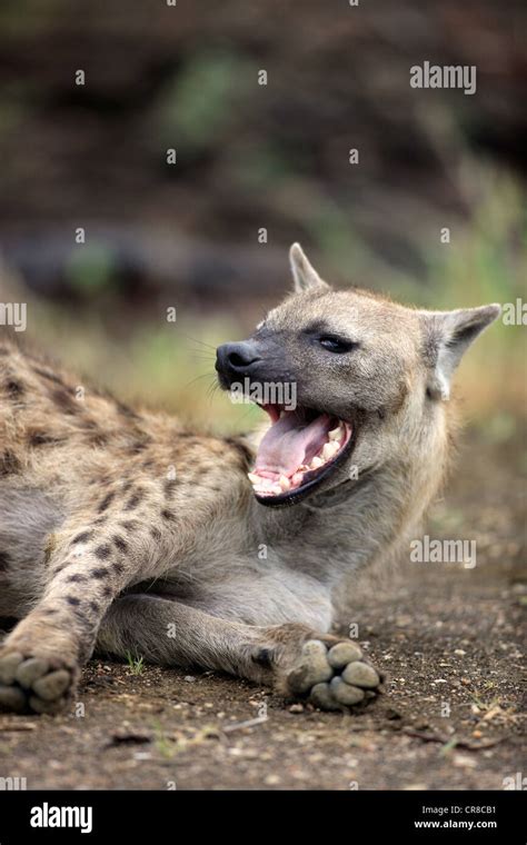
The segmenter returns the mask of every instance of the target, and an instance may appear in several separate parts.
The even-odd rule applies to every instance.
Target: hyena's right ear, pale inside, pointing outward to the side
[[[429,366],[427,394],[448,399],[450,380],[470,344],[501,314],[501,306],[459,308],[456,311],[421,311],[424,354]]]

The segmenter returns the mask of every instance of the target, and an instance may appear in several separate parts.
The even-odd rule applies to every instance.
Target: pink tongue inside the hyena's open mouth
[[[265,478],[290,478],[300,466],[309,465],[327,441],[330,428],[328,414],[308,425],[298,411],[286,411],[261,440],[255,471]]]

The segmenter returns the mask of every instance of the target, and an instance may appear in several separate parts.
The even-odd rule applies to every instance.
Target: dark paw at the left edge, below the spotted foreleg
[[[74,683],[60,660],[0,652],[0,710],[58,713]]]

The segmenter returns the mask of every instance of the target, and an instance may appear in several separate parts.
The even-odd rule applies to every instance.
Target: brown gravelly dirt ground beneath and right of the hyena
[[[366,709],[322,714],[211,673],[95,659],[83,716],[0,716],[0,776],[28,789],[504,788],[527,762],[526,458],[473,435],[434,508],[427,531],[476,539],[474,568],[407,564],[357,605],[350,589],[341,629],[357,620],[387,674]]]

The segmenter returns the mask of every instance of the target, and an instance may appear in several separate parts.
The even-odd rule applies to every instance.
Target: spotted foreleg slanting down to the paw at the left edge
[[[54,713],[74,690],[100,622],[138,566],[122,528],[77,524],[52,539],[43,589],[0,646],[0,709]]]

